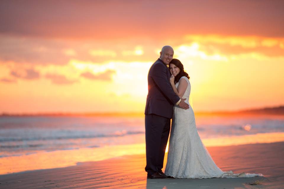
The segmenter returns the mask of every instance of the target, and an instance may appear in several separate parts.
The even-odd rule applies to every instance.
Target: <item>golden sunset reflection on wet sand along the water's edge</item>
[[[259,133],[255,135],[219,137],[204,139],[203,143],[206,147],[209,147],[272,143],[279,141],[284,141],[284,133]],[[37,153],[28,155],[0,158],[0,175],[27,170],[68,167],[76,165],[78,162],[101,161],[114,157],[135,154],[145,154],[145,143],[104,146],[99,148],[57,150],[49,152],[37,151]]]

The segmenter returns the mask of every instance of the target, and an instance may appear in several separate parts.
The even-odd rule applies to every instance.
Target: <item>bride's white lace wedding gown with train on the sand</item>
[[[188,103],[191,90],[190,82],[183,95]],[[178,82],[179,83],[179,82]],[[178,83],[175,84],[178,87]],[[189,104],[189,103],[188,103]],[[209,152],[203,145],[196,125],[192,107],[184,110],[175,105],[173,109],[172,128],[167,158],[165,175],[175,178],[232,178],[232,177],[256,177],[262,174],[239,173],[232,171],[223,172],[214,163]]]

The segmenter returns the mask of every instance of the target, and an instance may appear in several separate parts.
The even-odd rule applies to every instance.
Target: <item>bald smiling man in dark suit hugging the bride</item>
[[[166,178],[162,172],[164,155],[170,134],[170,121],[173,105],[183,109],[189,105],[180,99],[170,84],[168,65],[174,50],[164,46],[160,58],[151,66],[148,73],[148,95],[145,108],[146,167],[147,178]]]

